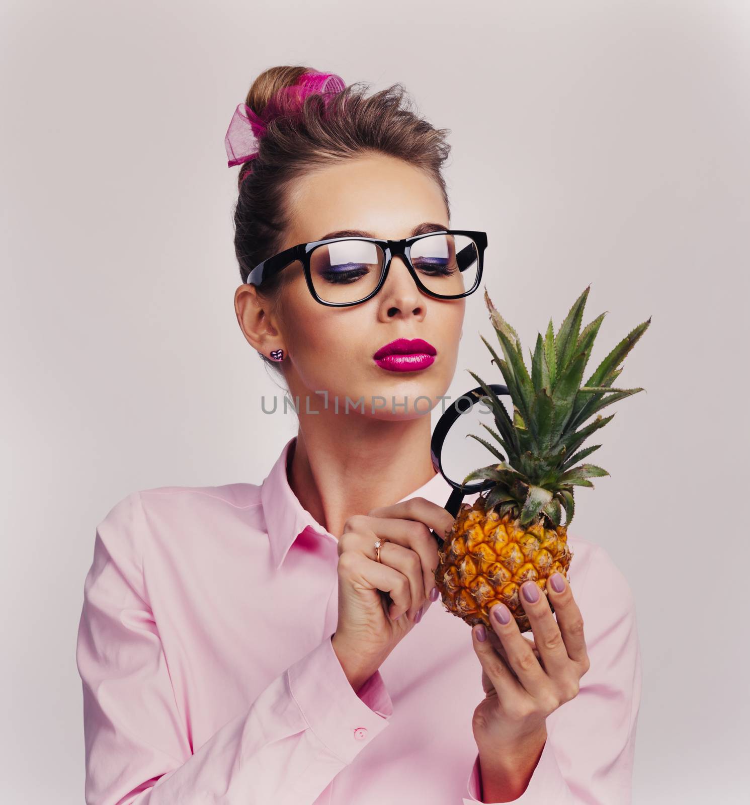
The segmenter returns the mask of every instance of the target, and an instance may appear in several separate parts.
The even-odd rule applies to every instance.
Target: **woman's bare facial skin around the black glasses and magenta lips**
[[[282,248],[338,237],[331,233],[344,229],[395,240],[410,237],[423,224],[450,229],[438,185],[400,159],[372,155],[326,167],[295,185],[291,228]],[[311,411],[322,409],[323,390],[329,409],[337,397],[343,412],[348,397],[350,413],[376,419],[411,419],[438,404],[455,373],[465,299],[423,294],[400,257],[393,258],[385,284],[372,299],[346,308],[315,301],[299,262],[284,273],[278,310],[268,310],[258,297],[266,308],[266,327],[276,335],[253,345],[266,355],[284,350],[286,382],[292,397],[299,395],[301,411],[306,395]],[[435,348],[434,361],[407,371],[379,364],[374,354],[398,338],[427,341]],[[363,403],[354,409],[360,398]]]

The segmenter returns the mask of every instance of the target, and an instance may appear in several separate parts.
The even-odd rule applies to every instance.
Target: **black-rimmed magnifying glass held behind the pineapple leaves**
[[[502,394],[510,394],[508,386],[503,386],[501,383],[488,383],[487,386],[498,397]],[[462,484],[460,481],[473,469],[492,463],[492,460],[488,458],[488,450],[483,444],[476,440],[466,439],[468,433],[476,436],[484,433],[489,439],[492,438],[482,427],[483,420],[490,425],[494,422],[492,409],[488,405],[476,406],[476,403],[487,398],[487,393],[482,386],[467,391],[447,407],[432,434],[430,443],[432,466],[453,487],[451,497],[445,504],[445,509],[453,517],[458,515],[464,497],[489,489],[495,483],[495,481],[487,479],[468,484]],[[486,410],[483,411],[483,408]],[[509,415],[513,416],[513,411],[510,411]],[[451,436],[447,438],[449,432]],[[435,531],[431,531],[431,534],[438,540],[438,545],[442,549],[445,537]]]

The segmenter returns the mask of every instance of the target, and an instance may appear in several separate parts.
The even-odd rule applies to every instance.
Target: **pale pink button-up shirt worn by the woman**
[[[88,805],[482,802],[468,625],[435,602],[353,690],[331,644],[336,537],[289,485],[295,439],[261,485],[134,492],[97,526],[76,648]],[[450,492],[438,474],[404,499],[443,506]],[[568,544],[591,668],[547,719],[513,802],[624,805],[641,696],[633,596],[606,551]]]

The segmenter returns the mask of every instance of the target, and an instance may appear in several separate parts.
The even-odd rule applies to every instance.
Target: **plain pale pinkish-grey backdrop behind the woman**
[[[258,72],[307,64],[451,129],[451,223],[487,231],[525,346],[588,283],[592,360],[653,316],[575,529],[636,594],[633,801],[740,802],[750,3],[6,0],[0,36],[2,799],[83,802],[97,522],[134,489],[259,483],[296,431],[233,311],[224,136]],[[477,293],[449,394],[480,333]]]

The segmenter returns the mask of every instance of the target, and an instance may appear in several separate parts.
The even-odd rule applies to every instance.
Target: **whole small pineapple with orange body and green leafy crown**
[[[521,603],[520,588],[533,580],[546,595],[546,582],[555,571],[567,578],[573,553],[567,545],[567,527],[573,519],[575,486],[593,487],[590,477],[609,473],[595,464],[581,463],[601,447],[579,450],[594,431],[614,414],[597,415],[601,408],[643,389],[616,389],[620,363],[649,327],[651,319],[629,332],[604,358],[582,386],[591,348],[604,313],[581,331],[589,288],[575,301],[554,334],[552,320],[546,335],[537,336],[526,369],[516,331],[502,318],[484,289],[484,301],[497,332],[505,360],[482,341],[500,368],[513,402],[513,419],[497,394],[473,372],[492,407],[497,431],[482,423],[495,444],[469,434],[494,456],[487,467],[474,470],[462,483],[475,479],[494,481],[464,504],[439,551],[435,583],[448,612],[469,625],[484,623],[490,630],[489,610],[502,601],[513,613],[519,630],[530,631]],[[562,523],[563,510],[565,522]],[[550,608],[554,606],[550,600]]]

